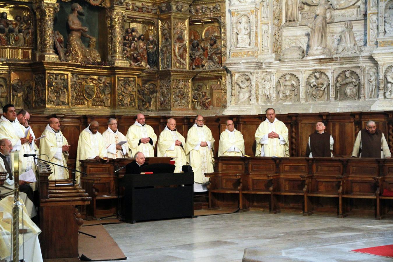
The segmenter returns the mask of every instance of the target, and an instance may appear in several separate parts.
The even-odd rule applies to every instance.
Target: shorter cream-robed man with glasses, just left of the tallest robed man
[[[218,156],[244,156],[244,139],[232,120],[227,120],[226,129],[220,135]]]

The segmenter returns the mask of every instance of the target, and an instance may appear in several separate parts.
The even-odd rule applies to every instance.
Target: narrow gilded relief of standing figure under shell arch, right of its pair
[[[187,25],[185,20],[173,20],[173,68],[187,68]]]

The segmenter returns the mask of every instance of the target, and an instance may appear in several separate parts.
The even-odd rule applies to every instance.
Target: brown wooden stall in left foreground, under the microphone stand
[[[44,261],[79,261],[78,229],[83,225],[75,205],[87,205],[92,198],[79,185],[55,186],[48,176],[52,174],[42,162],[38,166],[39,182],[39,235]],[[57,180],[56,183],[72,183]]]

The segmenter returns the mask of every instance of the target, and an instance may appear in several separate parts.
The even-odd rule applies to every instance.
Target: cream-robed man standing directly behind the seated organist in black
[[[136,115],[135,123],[128,129],[126,137],[131,155],[140,151],[147,158],[154,156],[157,136],[154,134],[153,128],[146,125],[146,119],[143,114]]]

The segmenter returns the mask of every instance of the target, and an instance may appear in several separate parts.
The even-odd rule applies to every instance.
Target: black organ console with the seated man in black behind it
[[[125,174],[125,221],[194,215],[194,173]]]

